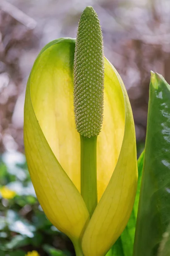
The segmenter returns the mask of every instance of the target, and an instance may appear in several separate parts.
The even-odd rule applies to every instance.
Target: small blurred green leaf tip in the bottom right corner
[[[168,225],[166,232],[163,234],[158,256],[170,256],[170,224]]]

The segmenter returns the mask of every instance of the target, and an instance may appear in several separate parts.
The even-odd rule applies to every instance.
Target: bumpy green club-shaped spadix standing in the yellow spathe
[[[97,136],[103,120],[104,54],[102,31],[93,7],[79,21],[74,56],[74,114],[77,131]]]

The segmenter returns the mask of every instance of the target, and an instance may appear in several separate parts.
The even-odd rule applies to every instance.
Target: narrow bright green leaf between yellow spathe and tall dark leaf
[[[143,169],[144,151],[138,159],[138,186],[136,192],[136,198],[133,206],[133,211],[130,215],[130,219],[123,231],[122,235],[113,245],[107,256],[132,256],[133,253],[133,242],[135,237],[136,218],[139,204],[139,193],[141,186],[141,177]]]

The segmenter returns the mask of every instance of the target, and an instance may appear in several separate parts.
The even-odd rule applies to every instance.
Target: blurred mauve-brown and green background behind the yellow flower
[[[76,37],[86,6],[96,10],[105,56],[121,75],[133,110],[138,156],[144,148],[150,70],[170,83],[170,0],[0,0],[0,256],[73,256],[46,219],[26,166],[23,105],[37,54]]]

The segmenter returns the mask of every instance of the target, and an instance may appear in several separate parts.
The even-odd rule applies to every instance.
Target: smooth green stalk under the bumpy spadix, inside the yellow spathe
[[[96,144],[97,136],[80,135],[81,143],[81,195],[90,217],[97,205]]]

